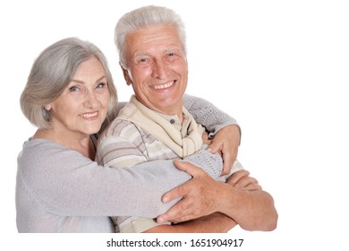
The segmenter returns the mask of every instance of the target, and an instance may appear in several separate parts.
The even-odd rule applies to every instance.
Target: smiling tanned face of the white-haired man
[[[170,25],[148,26],[126,37],[128,84],[138,100],[167,115],[181,115],[188,65],[177,30]]]

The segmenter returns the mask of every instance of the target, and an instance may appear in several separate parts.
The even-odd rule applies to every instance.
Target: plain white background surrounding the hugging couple
[[[39,52],[74,36],[102,49],[119,99],[128,100],[132,89],[118,66],[114,28],[123,13],[145,4],[174,8],[183,17],[187,92],[238,120],[239,159],[276,201],[275,231],[236,228],[220,237],[244,238],[240,250],[347,248],[349,8],[336,0],[2,1],[2,244],[61,250],[67,238],[72,247],[106,248],[110,236],[17,234],[16,158],[35,130],[22,116],[19,98]]]

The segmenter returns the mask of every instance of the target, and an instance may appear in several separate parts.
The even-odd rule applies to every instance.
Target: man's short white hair
[[[178,31],[179,38],[182,41],[184,53],[186,54],[186,36],[185,27],[182,18],[174,13],[173,10],[160,6],[144,6],[133,10],[130,13],[125,13],[122,18],[116,23],[115,27],[115,45],[119,53],[120,64],[123,68],[127,68],[125,52],[127,49],[126,36],[134,30],[149,25],[173,25]]]

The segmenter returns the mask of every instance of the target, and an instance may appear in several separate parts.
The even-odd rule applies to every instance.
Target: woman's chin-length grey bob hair
[[[49,128],[51,114],[45,108],[72,82],[79,65],[95,56],[103,66],[110,93],[109,112],[117,105],[117,93],[106,56],[98,47],[77,38],[62,39],[46,48],[34,61],[27,84],[21,93],[21,110],[31,124]]]

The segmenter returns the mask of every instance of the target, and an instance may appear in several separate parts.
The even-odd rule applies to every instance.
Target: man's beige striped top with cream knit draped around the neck
[[[166,116],[152,111],[133,96],[120,111],[119,116],[100,135],[97,161],[109,167],[130,168],[145,161],[180,159],[204,147],[201,140],[203,131],[204,128],[196,124],[185,108],[181,123],[177,116]],[[178,137],[182,137],[183,142]],[[199,145],[194,146],[192,148],[194,150],[182,154],[182,151],[178,151],[178,147],[191,149],[183,146],[189,137],[190,143],[187,144]],[[219,176],[221,169],[213,169]],[[155,220],[148,218],[133,216],[112,218],[118,228],[116,230],[120,232],[141,232],[157,225]]]

